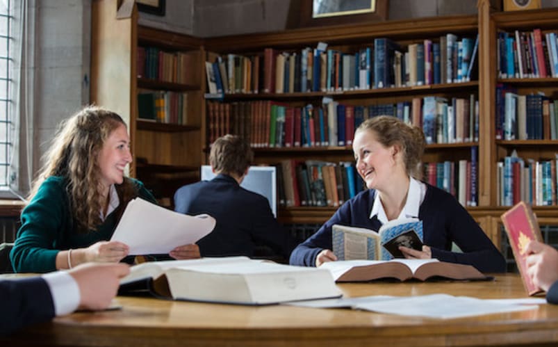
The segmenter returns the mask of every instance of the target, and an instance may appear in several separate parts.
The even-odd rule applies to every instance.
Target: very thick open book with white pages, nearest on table
[[[150,293],[174,300],[268,305],[337,298],[341,292],[322,268],[277,264],[247,257],[155,261],[131,267],[119,295]]]

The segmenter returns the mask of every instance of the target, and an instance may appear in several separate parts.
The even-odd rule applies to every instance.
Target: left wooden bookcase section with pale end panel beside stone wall
[[[130,174],[151,189],[164,206],[174,191],[199,180],[205,143],[205,51],[188,35],[138,26],[133,1],[93,1],[91,101],[113,109],[129,124],[134,161]],[[138,47],[187,52],[188,79],[171,83],[138,76]],[[204,77],[204,78],[202,78]],[[186,122],[167,124],[138,118],[138,93],[172,91],[188,95]]]

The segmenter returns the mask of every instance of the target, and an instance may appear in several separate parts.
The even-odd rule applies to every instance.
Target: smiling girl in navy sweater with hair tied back
[[[356,129],[352,147],[356,170],[368,189],[345,202],[318,232],[298,245],[290,264],[320,266],[335,261],[334,224],[377,231],[389,220],[418,218],[425,245],[422,250],[400,246],[406,258],[470,264],[486,273],[505,270],[504,257],[466,209],[450,193],[419,181],[425,149],[421,129],[391,116],[370,118]],[[452,243],[463,252],[452,252]]]

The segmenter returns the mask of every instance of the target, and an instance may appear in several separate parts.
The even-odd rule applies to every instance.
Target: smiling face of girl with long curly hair
[[[103,186],[122,184],[124,181],[124,168],[131,163],[130,137],[126,126],[120,124],[106,139],[98,156],[98,165],[101,169],[101,183]]]

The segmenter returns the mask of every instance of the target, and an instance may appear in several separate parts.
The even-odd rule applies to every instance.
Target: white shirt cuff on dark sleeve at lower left
[[[78,308],[81,298],[78,284],[72,275],[66,271],[55,271],[42,275],[42,278],[49,285],[56,316],[70,314]]]

